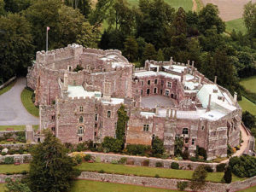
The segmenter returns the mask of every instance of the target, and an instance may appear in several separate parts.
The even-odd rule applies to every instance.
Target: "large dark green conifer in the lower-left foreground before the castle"
[[[79,175],[67,149],[51,131],[44,131],[44,143],[32,148],[29,186],[32,191],[69,191],[72,180]]]

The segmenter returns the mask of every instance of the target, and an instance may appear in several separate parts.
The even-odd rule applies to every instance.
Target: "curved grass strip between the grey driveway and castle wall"
[[[31,113],[36,117],[39,117],[39,109],[36,108],[34,103],[32,102],[32,94],[32,90],[22,90],[20,95],[21,102],[23,103],[23,106],[26,108],[26,111],[28,111],[28,113]]]

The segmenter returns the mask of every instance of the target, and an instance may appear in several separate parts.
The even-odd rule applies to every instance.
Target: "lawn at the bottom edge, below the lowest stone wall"
[[[1,189],[1,188],[0,188]],[[131,184],[105,183],[97,181],[75,181],[71,192],[178,192],[178,190],[156,189]]]

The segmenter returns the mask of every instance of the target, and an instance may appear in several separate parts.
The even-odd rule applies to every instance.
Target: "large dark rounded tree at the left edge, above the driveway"
[[[26,18],[9,13],[0,16],[0,84],[15,74],[26,74],[32,64],[31,26]]]

